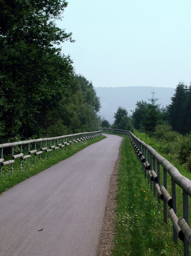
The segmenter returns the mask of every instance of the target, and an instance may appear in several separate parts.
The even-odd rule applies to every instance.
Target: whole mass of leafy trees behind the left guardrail
[[[100,101],[92,82],[75,74],[59,47],[74,42],[56,25],[67,4],[1,0],[1,143],[98,129]]]

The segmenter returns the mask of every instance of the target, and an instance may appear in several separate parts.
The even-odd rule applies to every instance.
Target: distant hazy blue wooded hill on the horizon
[[[136,107],[137,101],[147,101],[152,97],[152,86],[129,86],[129,87],[95,87],[97,96],[100,97],[101,110],[100,115],[105,118],[110,124],[114,122],[113,113],[117,111],[118,106],[122,106],[128,110],[131,115],[131,110]],[[158,103],[162,106],[171,103],[171,97],[175,93],[175,88],[154,87],[155,98],[158,98]]]

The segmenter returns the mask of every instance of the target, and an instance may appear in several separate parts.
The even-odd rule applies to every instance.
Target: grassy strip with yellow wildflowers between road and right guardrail
[[[183,255],[183,242],[173,242],[172,222],[163,222],[128,136],[124,136],[118,178],[115,246],[111,256]]]

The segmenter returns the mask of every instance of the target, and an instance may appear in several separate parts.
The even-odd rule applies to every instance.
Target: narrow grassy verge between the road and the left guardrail
[[[30,159],[29,164],[28,159],[25,159],[22,161],[21,168],[19,166],[19,159],[16,159],[17,161],[13,166],[12,173],[10,171],[10,165],[4,166],[2,169],[2,175],[0,176],[0,193],[104,138],[105,136],[101,135],[91,140],[82,141],[79,144],[71,144],[67,146],[66,149],[62,148],[52,151],[50,154],[46,153],[46,158],[43,153],[41,159],[36,157],[35,164],[33,159]]]

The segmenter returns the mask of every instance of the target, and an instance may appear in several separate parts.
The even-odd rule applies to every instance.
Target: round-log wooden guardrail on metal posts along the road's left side
[[[63,148],[68,146],[71,143],[79,143],[83,140],[88,140],[91,138],[95,138],[97,136],[102,135],[102,131],[96,131],[96,132],[86,132],[86,133],[76,133],[76,134],[70,134],[70,135],[63,135],[58,137],[51,137],[51,138],[39,138],[34,140],[27,140],[27,141],[17,141],[12,143],[4,143],[0,144],[0,174],[2,173],[2,167],[6,165],[10,165],[11,172],[13,171],[13,164],[15,163],[15,159],[20,158],[20,167],[22,166],[22,160],[29,159],[31,156],[34,156],[34,162],[35,157],[39,155],[39,158],[41,158],[41,155],[45,154],[47,152],[51,152],[52,150],[57,150],[58,148]],[[37,144],[39,147],[37,148]],[[27,150],[23,151],[23,146],[27,147]],[[14,147],[20,147],[20,152],[14,155]],[[10,159],[7,161],[4,160],[4,154],[3,149],[9,148],[10,149]],[[27,152],[27,153],[26,153]],[[7,156],[6,156],[7,157]]]

